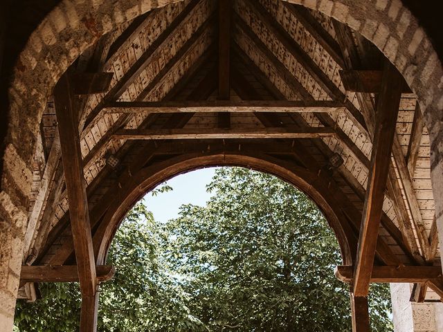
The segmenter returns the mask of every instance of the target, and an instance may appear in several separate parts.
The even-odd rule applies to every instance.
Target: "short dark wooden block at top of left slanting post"
[[[73,73],[69,75],[75,95],[92,95],[109,90],[114,73]]]

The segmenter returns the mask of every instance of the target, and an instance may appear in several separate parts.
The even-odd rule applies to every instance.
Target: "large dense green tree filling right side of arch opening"
[[[168,224],[172,270],[210,331],[350,331],[350,299],[334,277],[338,243],[293,185],[244,168],[218,169],[206,207]],[[386,286],[373,286],[372,331],[392,331]]]

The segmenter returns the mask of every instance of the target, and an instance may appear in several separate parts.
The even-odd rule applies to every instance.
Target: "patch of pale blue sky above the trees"
[[[157,196],[147,193],[144,200],[147,210],[154,214],[154,220],[165,222],[177,218],[179,208],[183,204],[204,206],[210,194],[206,185],[215,174],[215,167],[198,169],[197,171],[181,174],[167,181],[172,191],[163,192]]]

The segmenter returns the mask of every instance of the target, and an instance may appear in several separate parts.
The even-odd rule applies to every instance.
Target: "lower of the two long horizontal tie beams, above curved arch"
[[[119,140],[183,140],[228,138],[317,138],[334,136],[327,127],[266,129],[121,129],[114,134]]]

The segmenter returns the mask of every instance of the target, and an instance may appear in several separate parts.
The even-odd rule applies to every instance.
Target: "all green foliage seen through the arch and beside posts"
[[[156,194],[170,190],[161,187]],[[99,331],[350,331],[347,286],[332,230],[292,185],[242,168],[218,169],[205,207],[156,223],[138,203],[109,252]],[[17,306],[17,331],[77,331],[76,284],[42,284]],[[372,331],[392,331],[386,286],[371,289]]]

